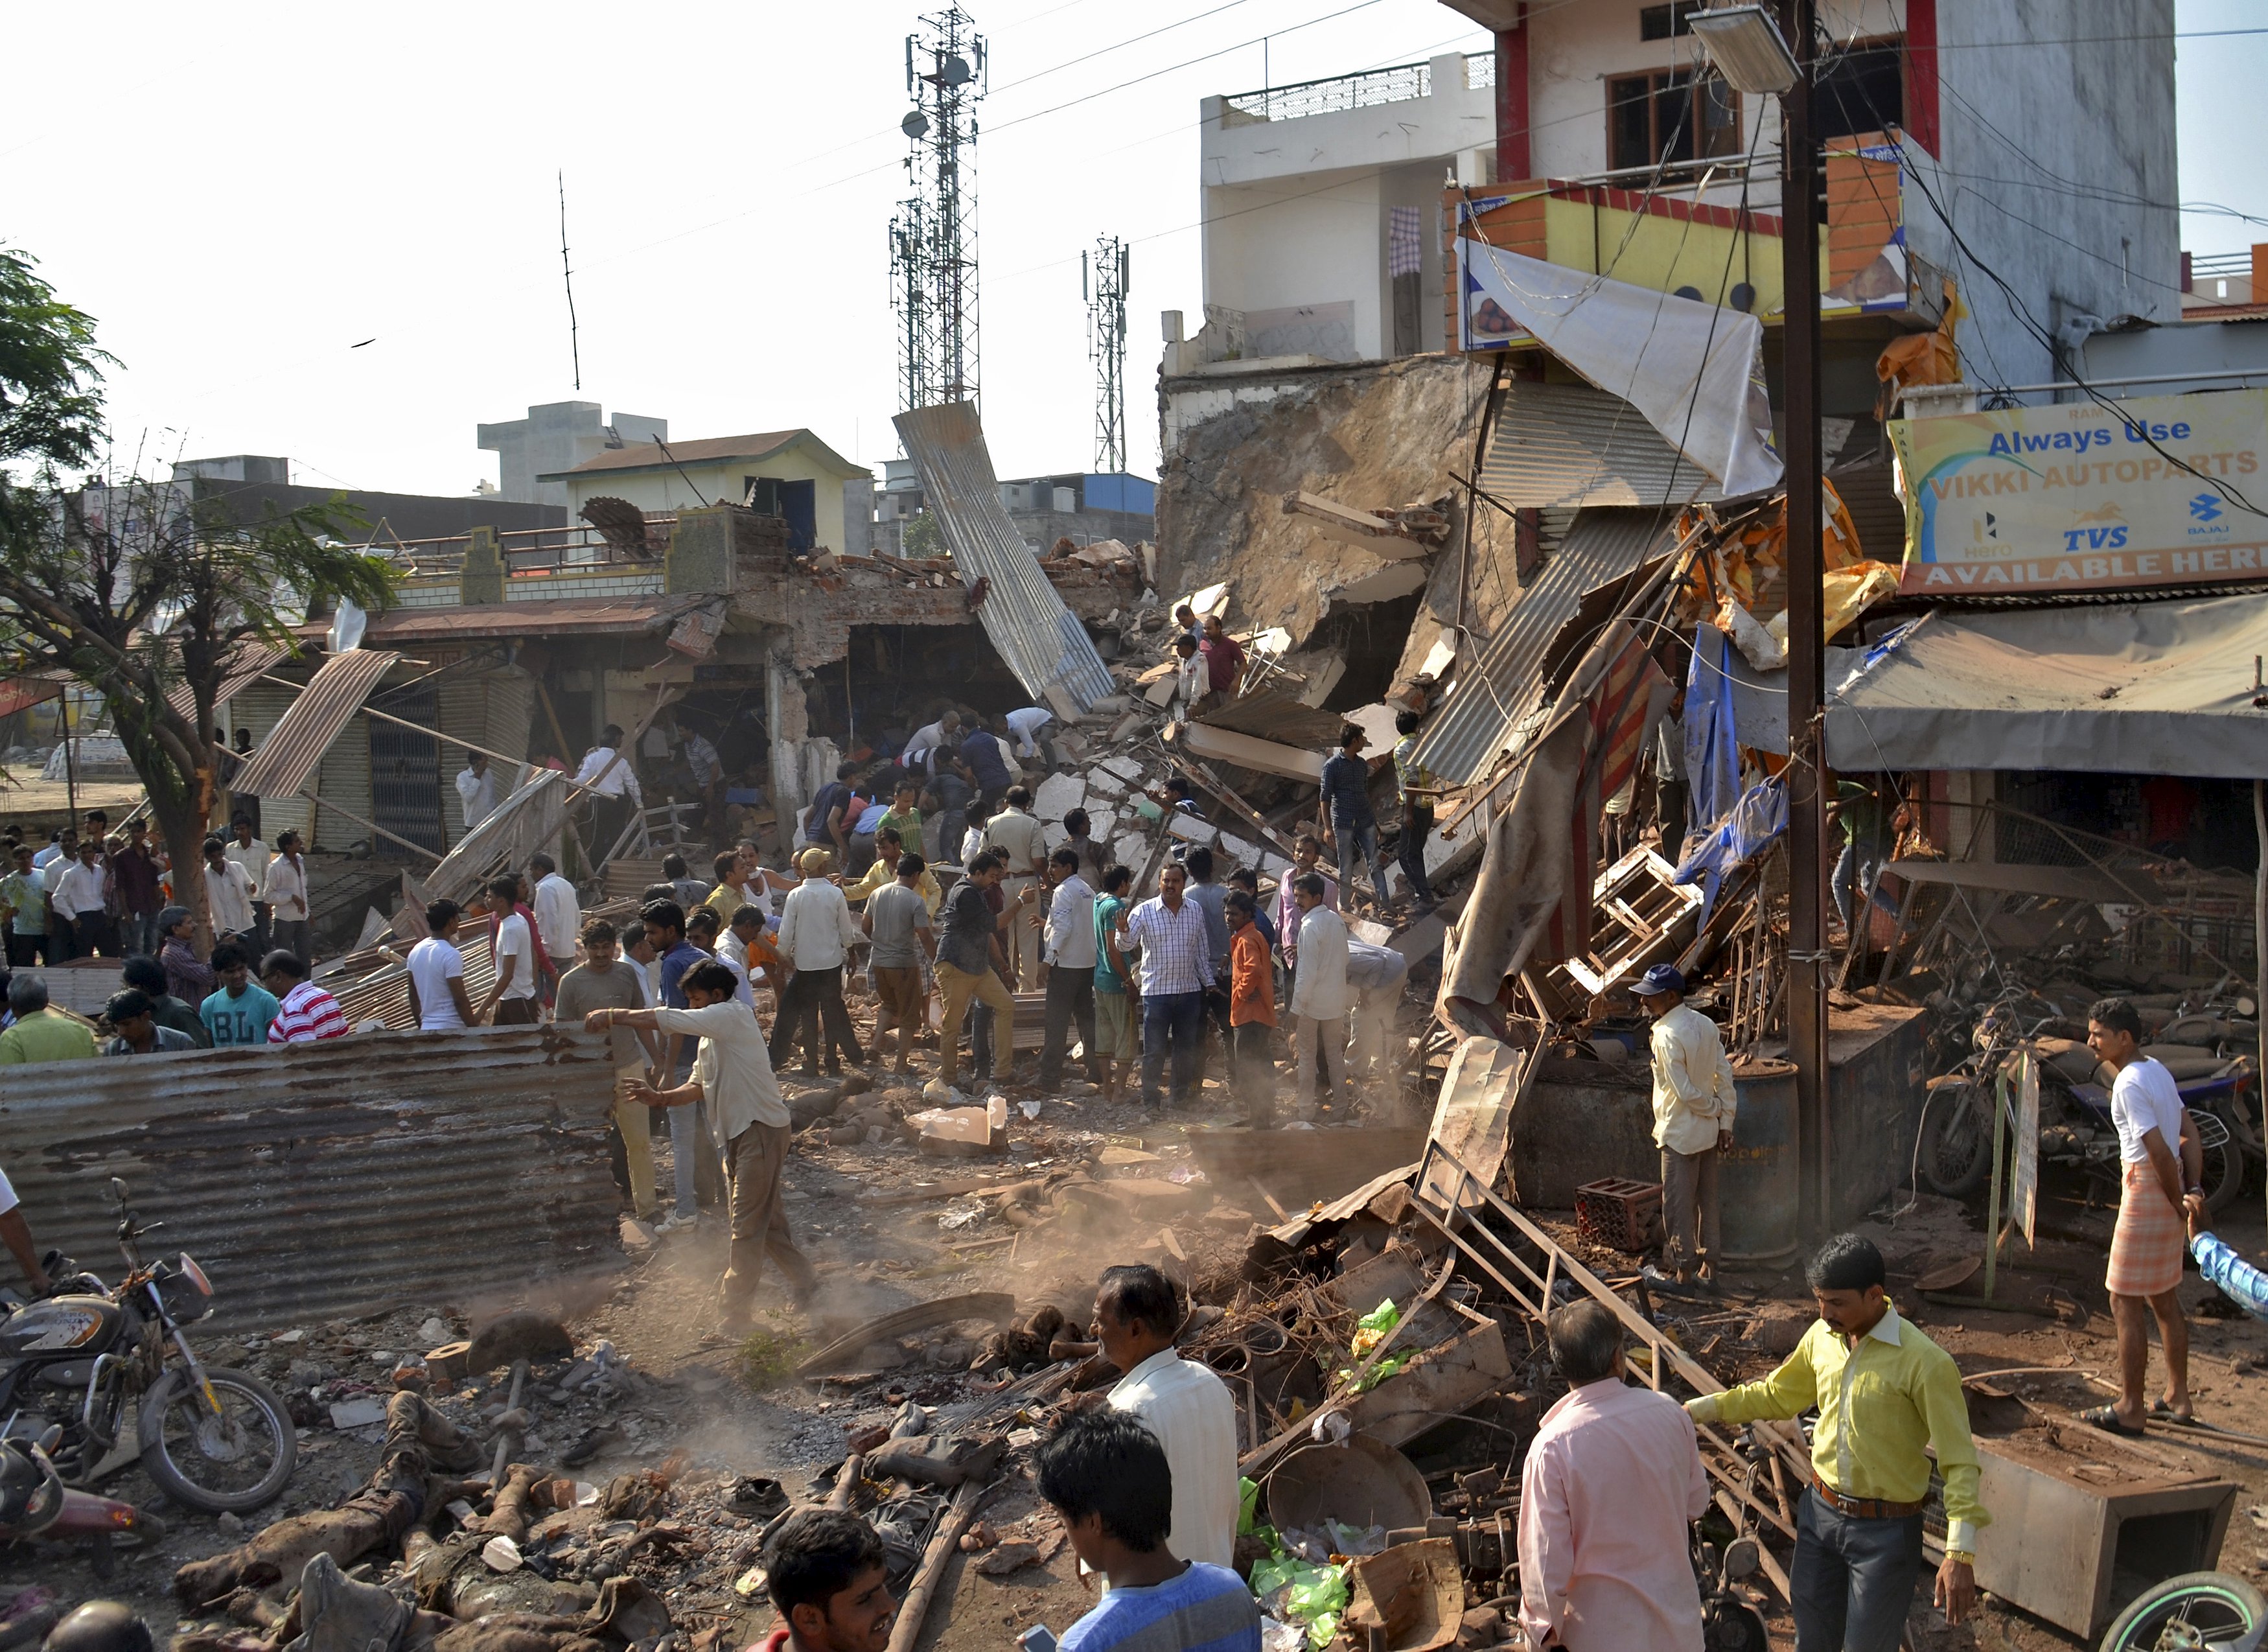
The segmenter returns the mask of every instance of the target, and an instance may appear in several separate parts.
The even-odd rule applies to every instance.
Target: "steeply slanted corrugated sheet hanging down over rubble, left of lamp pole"
[[[1674,511],[1581,511],[1481,656],[1458,663],[1456,690],[1417,740],[1417,762],[1452,785],[1486,776],[1535,708],[1545,654],[1581,610],[1583,592],[1658,556],[1674,533]]]

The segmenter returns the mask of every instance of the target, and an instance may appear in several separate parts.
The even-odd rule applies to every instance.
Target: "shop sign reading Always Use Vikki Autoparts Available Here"
[[[1894,420],[1921,595],[2268,579],[2268,390]]]

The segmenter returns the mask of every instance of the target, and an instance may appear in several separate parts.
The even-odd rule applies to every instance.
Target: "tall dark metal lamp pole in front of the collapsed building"
[[[1780,188],[1780,284],[1787,324],[1780,404],[1787,427],[1787,1053],[1796,1067],[1796,1144],[1803,1164],[1803,1228],[1823,1237],[1835,1219],[1828,1135],[1826,992],[1826,769],[1821,765],[1819,545],[1819,222],[1812,193],[1819,143],[1812,136],[1814,0],[1780,0],[1780,32],[1796,54],[1796,84],[1780,98],[1787,118]]]

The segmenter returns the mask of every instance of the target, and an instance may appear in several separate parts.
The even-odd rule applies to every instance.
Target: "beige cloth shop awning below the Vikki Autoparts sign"
[[[1828,762],[2268,776],[2261,656],[2268,597],[1937,610],[1835,685]]]

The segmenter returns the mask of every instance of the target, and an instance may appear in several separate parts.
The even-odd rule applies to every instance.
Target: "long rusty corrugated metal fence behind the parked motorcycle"
[[[556,1028],[52,1062],[11,1069],[0,1139],[39,1241],[104,1278],[122,1175],[150,1253],[213,1278],[213,1346],[608,1264],[612,1078]]]

